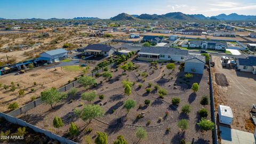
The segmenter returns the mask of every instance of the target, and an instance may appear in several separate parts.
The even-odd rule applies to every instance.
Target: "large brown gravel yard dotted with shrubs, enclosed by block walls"
[[[102,105],[102,109],[106,111],[106,114],[102,118],[93,119],[92,123],[86,126],[91,127],[93,131],[90,133],[84,132],[84,125],[86,124],[81,119],[78,119],[74,113],[74,108],[79,107],[79,103],[87,104],[85,100],[80,98],[82,92],[86,90],[84,87],[78,87],[78,94],[73,102],[67,99],[60,102],[55,110],[52,110],[48,105],[40,105],[27,111],[26,114],[18,116],[28,123],[42,127],[43,129],[53,131],[61,136],[67,137],[68,128],[71,122],[74,122],[79,127],[79,134],[75,138],[70,138],[79,143],[85,143],[83,137],[89,135],[92,139],[95,138],[95,132],[101,131],[108,134],[108,142],[112,143],[118,135],[124,135],[128,143],[135,143],[138,139],[135,137],[135,130],[138,126],[142,126],[147,131],[148,138],[143,140],[142,143],[155,144],[155,143],[179,143],[180,139],[185,138],[186,141],[191,142],[195,138],[196,143],[212,143],[212,132],[205,132],[203,135],[199,130],[196,123],[199,121],[197,111],[202,108],[199,104],[201,97],[204,94],[209,95],[209,75],[205,70],[204,75],[194,75],[191,79],[185,79],[183,71],[178,70],[176,66],[175,70],[168,70],[165,66],[158,66],[158,69],[154,70],[150,68],[148,64],[138,64],[139,68],[133,71],[126,71],[127,75],[122,76],[122,69],[118,68],[118,71],[114,72],[113,78],[110,81],[103,80],[102,77],[97,78],[97,82],[103,81],[97,87],[90,90],[97,91],[97,94],[104,94],[105,98],[100,101],[99,98],[94,100],[95,105],[106,102],[106,105]],[[162,67],[162,68],[161,68]],[[147,71],[148,77],[145,78],[145,82],[142,81],[142,77],[139,74]],[[132,94],[129,97],[124,95],[124,89],[122,87],[122,80],[129,79],[129,81],[137,82],[132,87]],[[197,82],[199,83],[199,91],[194,94],[190,87]],[[138,84],[142,83],[142,87],[139,88]],[[146,93],[146,87],[148,83],[153,83],[153,86],[158,84],[167,90],[165,98],[159,99],[157,91],[152,86],[152,91]],[[177,89],[174,89],[174,83],[177,84]],[[181,99],[180,105],[171,105],[171,98],[179,97]],[[126,110],[123,108],[123,102],[127,99],[134,99],[137,101],[136,108],[130,110],[125,119]],[[144,105],[145,99],[149,99],[151,102],[149,106]],[[139,108],[139,105],[142,108]],[[190,104],[191,113],[189,116],[181,113],[181,107],[185,104]],[[205,106],[210,112],[210,105]],[[113,109],[115,109],[113,113]],[[165,111],[169,111],[170,115],[165,117]],[[141,112],[145,113],[145,117],[136,119],[136,116]],[[62,118],[64,126],[60,129],[55,129],[52,126],[52,120],[54,116]],[[159,122],[158,117],[163,117],[163,121]],[[177,122],[180,119],[188,119],[189,129],[185,133],[181,133],[178,129]],[[207,119],[211,119],[210,115]],[[150,121],[150,125],[147,125],[147,121]],[[166,128],[170,127],[171,131],[166,132]]]

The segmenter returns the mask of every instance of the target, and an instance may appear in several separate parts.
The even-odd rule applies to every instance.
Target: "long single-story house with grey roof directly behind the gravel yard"
[[[184,61],[188,51],[171,47],[142,47],[138,52],[138,58],[149,60],[174,60]]]

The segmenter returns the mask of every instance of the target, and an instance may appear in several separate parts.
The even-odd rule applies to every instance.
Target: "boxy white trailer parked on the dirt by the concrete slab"
[[[219,122],[231,125],[233,121],[233,113],[230,107],[219,105],[218,107]]]

